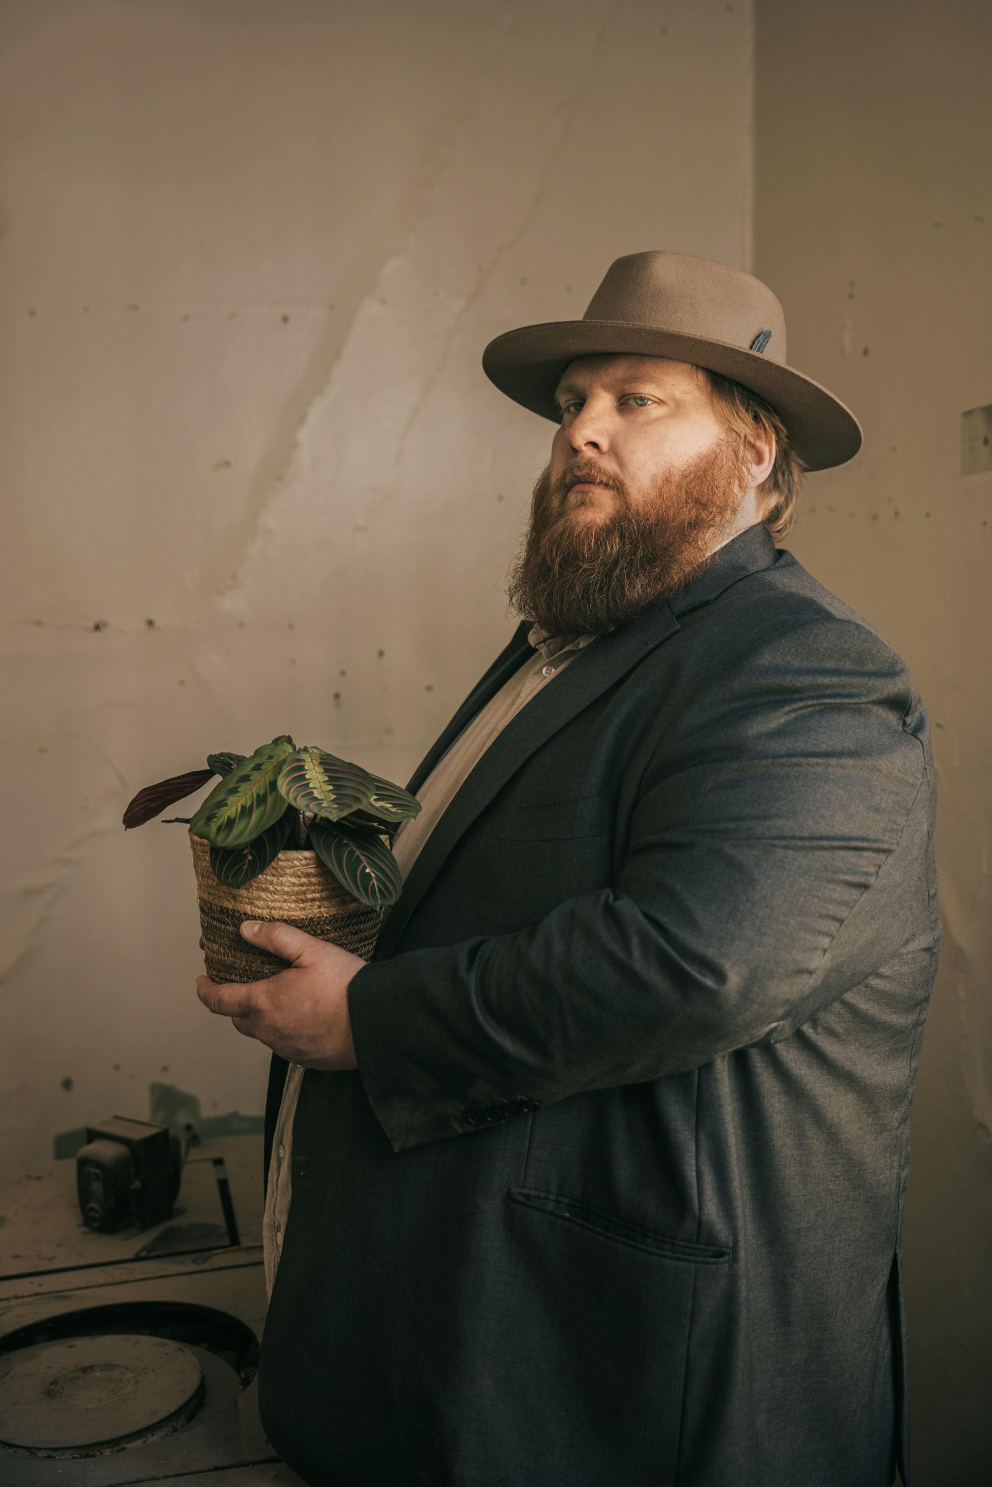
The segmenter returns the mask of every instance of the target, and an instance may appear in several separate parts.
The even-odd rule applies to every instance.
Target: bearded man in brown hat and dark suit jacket
[[[245,926],[292,967],[199,983],[275,1054],[263,1425],[312,1487],[909,1483],[930,735],[776,547],[861,431],[684,254],[483,367],[556,430],[403,894],[369,964]]]

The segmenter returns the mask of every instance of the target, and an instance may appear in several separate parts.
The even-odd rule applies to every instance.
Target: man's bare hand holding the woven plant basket
[[[211,981],[196,977],[196,995],[219,1017],[231,1017],[245,1038],[257,1038],[281,1059],[308,1069],[357,1069],[348,1017],[348,983],[366,964],[336,944],[293,925],[245,922],[250,944],[292,961],[265,981]]]

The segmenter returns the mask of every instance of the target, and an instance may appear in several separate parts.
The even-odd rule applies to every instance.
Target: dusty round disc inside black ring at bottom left
[[[199,1359],[144,1334],[71,1337],[0,1358],[0,1444],[27,1450],[112,1445],[190,1419]]]

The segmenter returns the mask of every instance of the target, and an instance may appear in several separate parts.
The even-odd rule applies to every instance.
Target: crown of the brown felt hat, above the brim
[[[583,320],[700,336],[785,363],[785,315],[767,284],[687,253],[653,250],[614,259]],[[761,338],[757,345],[756,338]]]

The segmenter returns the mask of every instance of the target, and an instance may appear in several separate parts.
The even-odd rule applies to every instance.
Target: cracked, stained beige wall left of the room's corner
[[[0,1158],[30,1163],[153,1083],[262,1111],[266,1050],[195,996],[184,830],[123,806],[286,730],[409,778],[516,623],[550,442],[482,348],[622,253],[748,266],[751,10],[0,21]]]

